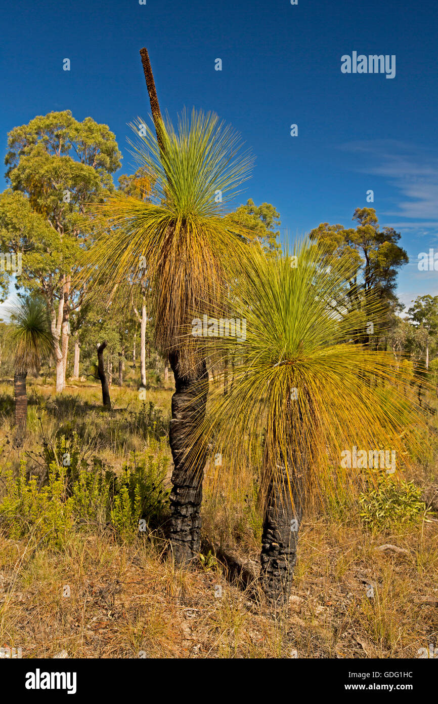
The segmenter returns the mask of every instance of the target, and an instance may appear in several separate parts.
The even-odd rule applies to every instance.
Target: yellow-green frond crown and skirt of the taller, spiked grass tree
[[[96,210],[101,234],[84,255],[81,282],[92,294],[104,279],[108,296],[129,300],[132,287],[147,298],[148,315],[163,351],[186,349],[189,365],[194,341],[181,342],[191,310],[221,305],[226,280],[238,272],[248,233],[221,217],[226,196],[247,177],[250,158],[238,155],[235,134],[214,115],[193,112],[166,125],[160,149],[146,129],[138,161],[154,184],[149,202],[124,194]]]

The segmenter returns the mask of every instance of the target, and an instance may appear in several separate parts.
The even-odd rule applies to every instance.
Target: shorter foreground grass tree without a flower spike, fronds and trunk
[[[319,262],[321,251],[308,243],[293,256],[254,249],[232,296],[246,339],[220,337],[219,320],[219,336],[205,340],[206,355],[238,361],[226,396],[212,389],[199,432],[210,436],[222,473],[240,481],[245,468],[249,481],[259,473],[261,582],[275,603],[290,593],[304,508],[330,494],[339,501],[340,491],[348,498],[373,474],[364,463],[348,467],[347,452],[363,448],[368,458],[391,449],[399,470],[406,427],[421,422],[392,356],[354,344],[362,333],[348,314],[344,264]]]

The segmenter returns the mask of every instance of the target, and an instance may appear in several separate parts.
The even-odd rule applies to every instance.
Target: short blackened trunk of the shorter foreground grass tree
[[[284,460],[269,472],[262,534],[261,582],[274,605],[288,603],[293,570],[297,561],[299,525],[303,511],[302,463]],[[292,467],[295,465],[295,470]]]

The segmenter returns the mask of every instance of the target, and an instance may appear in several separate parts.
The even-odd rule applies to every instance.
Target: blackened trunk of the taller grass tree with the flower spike
[[[176,353],[169,356],[175,377],[169,444],[174,460],[170,494],[169,539],[177,565],[191,562],[200,551],[202,480],[207,458],[202,446],[193,452],[193,431],[205,417],[208,373],[205,360],[183,376]],[[205,393],[202,389],[205,388]]]

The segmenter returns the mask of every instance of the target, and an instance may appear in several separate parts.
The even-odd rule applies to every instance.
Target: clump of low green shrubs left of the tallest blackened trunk
[[[84,525],[110,526],[116,536],[132,540],[140,521],[145,530],[162,522],[169,494],[164,486],[169,458],[163,443],[156,454],[148,451],[139,461],[134,457],[119,474],[98,458],[88,465],[74,445],[67,453],[53,448],[45,452],[50,461],[42,485],[41,479],[27,477],[25,460],[18,477],[10,469],[3,474],[6,495],[0,503],[0,522],[11,537],[32,534],[32,541],[62,549],[69,534]]]

